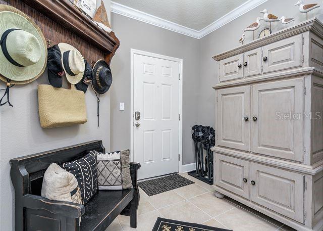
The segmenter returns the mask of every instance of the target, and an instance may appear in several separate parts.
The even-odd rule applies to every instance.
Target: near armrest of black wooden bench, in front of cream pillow
[[[23,196],[23,206],[30,209],[44,209],[51,213],[70,218],[79,218],[85,212],[85,208],[81,204],[67,201],[52,201],[47,198],[31,194]]]

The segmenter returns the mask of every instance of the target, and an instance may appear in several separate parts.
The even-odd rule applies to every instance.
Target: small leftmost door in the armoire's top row
[[[243,54],[221,60],[219,65],[220,82],[243,78]]]

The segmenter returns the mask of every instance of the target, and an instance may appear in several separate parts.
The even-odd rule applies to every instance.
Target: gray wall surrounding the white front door
[[[199,43],[197,39],[111,14],[120,48],[112,59],[111,147],[130,148],[130,49],[183,59],[183,164],[194,162],[191,127],[197,121]],[[119,103],[125,102],[125,111]]]

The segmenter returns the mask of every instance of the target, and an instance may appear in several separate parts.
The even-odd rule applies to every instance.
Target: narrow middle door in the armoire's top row
[[[244,53],[243,76],[249,77],[261,74],[261,48]]]

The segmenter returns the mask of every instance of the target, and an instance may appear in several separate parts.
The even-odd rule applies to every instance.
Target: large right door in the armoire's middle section
[[[252,152],[303,161],[303,78],[252,86]]]

